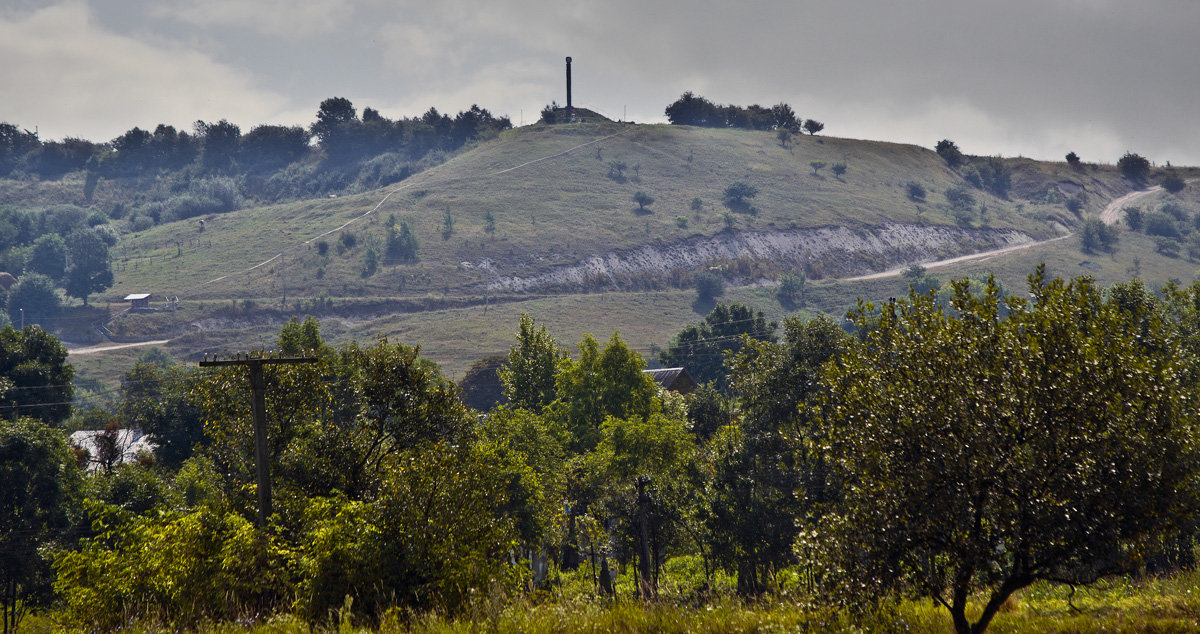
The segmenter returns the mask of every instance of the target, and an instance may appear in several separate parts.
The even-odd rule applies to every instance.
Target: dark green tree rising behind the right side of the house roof
[[[659,353],[667,367],[684,367],[697,383],[713,383],[725,391],[728,370],[725,358],[742,349],[743,337],[772,341],[775,322],[768,322],[745,304],[718,304],[696,324],[689,324],[671,337]]]

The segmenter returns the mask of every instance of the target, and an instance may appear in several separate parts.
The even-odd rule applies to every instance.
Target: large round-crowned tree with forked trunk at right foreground
[[[1013,592],[1126,570],[1194,518],[1200,421],[1153,311],[1044,267],[1007,318],[991,280],[953,287],[955,316],[920,295],[854,311],[871,330],[823,377],[844,497],[797,549],[829,587],[929,597],[979,633]]]

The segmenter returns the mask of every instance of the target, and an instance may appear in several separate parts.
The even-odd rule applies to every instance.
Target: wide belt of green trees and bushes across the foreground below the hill
[[[72,414],[61,345],[10,328],[5,614],[379,623],[572,584],[652,599],[673,575],[701,602],[722,579],[816,605],[925,597],[982,632],[1037,581],[1194,564],[1198,298],[1039,268],[1027,295],[954,281],[847,328],[718,306],[661,351],[704,381],[689,395],[616,333],[570,354],[523,316],[486,412],[415,348],[334,348],[293,319],[277,348],[318,361],[265,372],[266,528],[244,370],[148,357],[110,409]],[[104,431],[72,450],[62,426]],[[121,463],[130,427],[157,448]]]

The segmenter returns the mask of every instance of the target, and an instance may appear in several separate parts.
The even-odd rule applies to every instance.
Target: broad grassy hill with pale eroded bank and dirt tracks
[[[522,311],[548,319],[563,341],[620,330],[649,353],[707,311],[691,291],[695,273],[721,275],[722,299],[773,316],[794,306],[769,285],[804,273],[805,305],[836,315],[856,297],[905,287],[839,279],[1061,237],[1138,189],[1114,166],[976,162],[1001,166],[1007,187],[976,186],[971,166],[952,169],[914,145],[604,120],[527,126],[379,190],[126,225],[115,283],[98,299],[116,312],[127,293],[180,298],[178,312],[108,324],[122,341],[170,339],[180,359],[270,345],[288,317],[312,313],[335,339],[398,336],[461,375],[506,348]],[[71,183],[5,181],[0,191],[55,199],[70,197]],[[728,201],[734,184],[757,196]],[[1190,191],[1144,204],[1166,197],[1190,214]],[[410,241],[397,247],[406,229],[414,258]],[[938,274],[997,271],[1019,287],[1037,261],[1102,281],[1138,273],[1160,283],[1195,268],[1128,234],[1116,255],[1086,256],[1068,239]],[[78,359],[84,375],[112,381],[96,367],[103,355]]]

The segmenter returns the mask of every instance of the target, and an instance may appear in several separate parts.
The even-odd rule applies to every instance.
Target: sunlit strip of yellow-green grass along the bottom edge
[[[996,616],[988,632],[1027,633],[1183,633],[1200,632],[1200,574],[1130,579],[1100,582],[1072,590],[1037,584],[1016,594]],[[376,628],[343,617],[330,629],[350,632],[404,633],[892,633],[949,634],[954,629],[944,609],[928,600],[883,602],[865,610],[815,608],[786,597],[745,603],[734,598],[689,602],[667,596],[643,604],[628,598],[629,588],[616,599],[575,594],[539,594],[508,600],[499,596],[480,597],[466,615],[394,611]],[[26,618],[23,630],[54,632],[55,617]],[[155,632],[154,624],[136,624],[131,632]],[[218,623],[199,629],[206,633],[259,634],[307,633],[311,627],[292,615],[281,615],[254,624]]]

